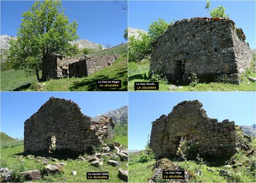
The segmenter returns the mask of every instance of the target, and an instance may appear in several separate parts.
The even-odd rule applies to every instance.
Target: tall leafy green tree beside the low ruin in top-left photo
[[[17,40],[11,40],[9,60],[14,69],[26,69],[36,74],[53,53],[66,54],[72,50],[69,43],[78,38],[76,21],[70,23],[61,1],[36,1],[22,14]]]

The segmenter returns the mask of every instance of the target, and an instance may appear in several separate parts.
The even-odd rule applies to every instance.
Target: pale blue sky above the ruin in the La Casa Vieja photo
[[[196,99],[210,118],[229,119],[236,125],[255,123],[254,92],[130,92],[129,150],[144,149],[152,121],[169,114],[181,101]]]

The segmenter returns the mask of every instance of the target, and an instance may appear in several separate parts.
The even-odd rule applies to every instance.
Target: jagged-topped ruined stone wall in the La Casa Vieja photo
[[[196,144],[201,156],[236,153],[234,121],[210,119],[198,100],[183,101],[170,114],[152,122],[150,148],[156,159],[176,156],[182,140]]]

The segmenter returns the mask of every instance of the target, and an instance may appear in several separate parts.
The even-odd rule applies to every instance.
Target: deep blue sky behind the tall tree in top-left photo
[[[1,34],[16,35],[22,12],[28,11],[35,1],[1,1]],[[80,39],[112,46],[125,42],[127,11],[121,10],[127,1],[62,1],[70,22],[78,22]]]

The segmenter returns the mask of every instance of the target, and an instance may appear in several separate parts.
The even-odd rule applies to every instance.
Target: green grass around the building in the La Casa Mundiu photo
[[[134,82],[150,82],[142,77],[142,74],[149,72],[150,61],[145,59],[141,62],[129,62],[129,91],[134,91]],[[248,79],[250,77],[256,77],[255,73],[255,57],[252,62],[252,65],[247,71],[242,75],[242,82],[237,84],[229,83],[199,83],[195,87],[190,85],[180,85],[182,88],[171,90],[175,92],[182,91],[255,91],[255,82],[252,82]],[[200,82],[200,81],[199,81]],[[170,91],[169,87],[171,84],[159,83],[160,91]]]

